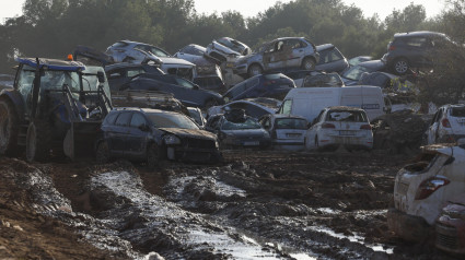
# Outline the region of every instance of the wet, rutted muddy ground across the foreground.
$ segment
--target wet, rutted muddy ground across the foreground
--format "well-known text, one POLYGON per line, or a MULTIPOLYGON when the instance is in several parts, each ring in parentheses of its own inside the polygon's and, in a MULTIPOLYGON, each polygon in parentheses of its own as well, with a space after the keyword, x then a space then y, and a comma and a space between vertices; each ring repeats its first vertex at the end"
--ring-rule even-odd
POLYGON ((218 165, 0 158, 0 259, 460 259, 387 231, 382 152, 225 151, 218 165))

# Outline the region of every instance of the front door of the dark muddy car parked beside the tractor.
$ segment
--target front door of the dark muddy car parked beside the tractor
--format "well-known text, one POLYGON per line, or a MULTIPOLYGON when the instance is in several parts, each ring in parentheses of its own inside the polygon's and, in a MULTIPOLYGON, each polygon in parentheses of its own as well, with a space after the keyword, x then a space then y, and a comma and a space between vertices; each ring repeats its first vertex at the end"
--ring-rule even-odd
POLYGON ((127 147, 125 156, 144 158, 150 134, 146 117, 141 113, 133 113, 129 122, 129 133, 125 140, 127 147))

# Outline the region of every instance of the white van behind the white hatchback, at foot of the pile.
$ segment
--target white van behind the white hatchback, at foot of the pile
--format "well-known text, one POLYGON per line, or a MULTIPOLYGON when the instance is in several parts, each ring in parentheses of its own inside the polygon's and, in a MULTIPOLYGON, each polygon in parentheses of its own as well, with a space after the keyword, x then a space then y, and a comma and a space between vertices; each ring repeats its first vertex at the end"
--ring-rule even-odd
POLYGON ((370 120, 387 111, 381 87, 345 86, 293 88, 284 97, 278 114, 302 116, 312 122, 319 111, 330 106, 362 108, 370 120))

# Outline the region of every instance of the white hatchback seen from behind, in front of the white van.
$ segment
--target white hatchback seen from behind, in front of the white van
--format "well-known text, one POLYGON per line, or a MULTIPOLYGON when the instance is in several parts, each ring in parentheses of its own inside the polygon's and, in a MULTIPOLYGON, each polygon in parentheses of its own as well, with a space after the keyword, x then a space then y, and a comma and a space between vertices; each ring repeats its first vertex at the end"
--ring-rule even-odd
POLYGON ((307 150, 371 150, 373 133, 367 113, 354 107, 327 107, 314 119, 306 133, 307 150))

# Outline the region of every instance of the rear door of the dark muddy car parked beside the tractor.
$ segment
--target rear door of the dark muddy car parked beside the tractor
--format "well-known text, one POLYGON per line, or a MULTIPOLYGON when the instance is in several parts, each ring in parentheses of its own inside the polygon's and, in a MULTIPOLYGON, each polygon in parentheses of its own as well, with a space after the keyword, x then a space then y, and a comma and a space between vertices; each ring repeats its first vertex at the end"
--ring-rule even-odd
POLYGON ((107 130, 107 142, 112 154, 115 156, 123 156, 126 150, 126 138, 129 134, 129 120, 131 118, 130 111, 123 111, 118 115, 113 127, 107 130))

